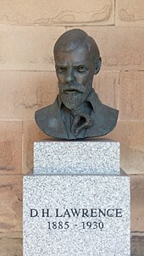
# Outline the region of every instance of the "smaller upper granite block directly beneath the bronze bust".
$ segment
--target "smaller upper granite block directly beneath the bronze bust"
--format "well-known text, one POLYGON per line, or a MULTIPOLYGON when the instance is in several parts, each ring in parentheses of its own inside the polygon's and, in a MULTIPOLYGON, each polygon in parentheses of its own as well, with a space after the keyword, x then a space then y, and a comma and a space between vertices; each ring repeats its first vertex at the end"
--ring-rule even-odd
POLYGON ((34 174, 119 174, 119 142, 107 140, 34 143, 34 174))

